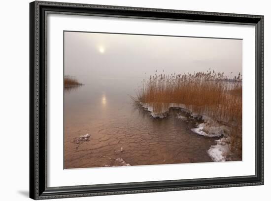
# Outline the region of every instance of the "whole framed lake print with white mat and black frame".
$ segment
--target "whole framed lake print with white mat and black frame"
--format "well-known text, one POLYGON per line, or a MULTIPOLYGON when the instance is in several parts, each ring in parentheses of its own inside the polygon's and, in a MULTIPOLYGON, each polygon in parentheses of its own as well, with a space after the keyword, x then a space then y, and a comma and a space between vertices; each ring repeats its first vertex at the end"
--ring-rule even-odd
POLYGON ((30 197, 264 184, 264 16, 30 3, 30 197))

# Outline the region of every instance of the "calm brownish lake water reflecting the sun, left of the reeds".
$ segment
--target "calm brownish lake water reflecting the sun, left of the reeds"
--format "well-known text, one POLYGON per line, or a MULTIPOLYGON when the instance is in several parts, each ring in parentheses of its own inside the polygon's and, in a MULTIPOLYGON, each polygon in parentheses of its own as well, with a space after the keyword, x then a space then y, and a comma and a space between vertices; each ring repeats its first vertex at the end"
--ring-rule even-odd
POLYGON ((193 133, 178 111, 161 120, 135 107, 130 95, 140 80, 96 79, 65 90, 65 168, 212 161, 215 139, 193 133))

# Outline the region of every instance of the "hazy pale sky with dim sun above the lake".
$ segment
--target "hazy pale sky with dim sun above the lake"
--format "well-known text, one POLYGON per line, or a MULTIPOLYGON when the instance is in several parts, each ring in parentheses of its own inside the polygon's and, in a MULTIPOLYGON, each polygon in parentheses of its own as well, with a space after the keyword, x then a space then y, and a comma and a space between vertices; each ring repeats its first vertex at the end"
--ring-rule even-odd
POLYGON ((84 82, 209 68, 242 72, 242 40, 65 32, 65 75, 84 82))

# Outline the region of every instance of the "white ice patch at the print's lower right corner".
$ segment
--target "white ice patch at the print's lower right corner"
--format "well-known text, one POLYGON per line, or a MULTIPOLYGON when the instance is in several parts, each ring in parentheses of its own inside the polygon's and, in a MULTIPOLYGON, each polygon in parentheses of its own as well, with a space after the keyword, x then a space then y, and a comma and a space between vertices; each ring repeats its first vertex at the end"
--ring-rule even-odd
POLYGON ((212 145, 207 151, 208 155, 215 162, 226 161, 227 154, 229 152, 229 145, 226 144, 226 138, 216 140, 217 144, 212 145))

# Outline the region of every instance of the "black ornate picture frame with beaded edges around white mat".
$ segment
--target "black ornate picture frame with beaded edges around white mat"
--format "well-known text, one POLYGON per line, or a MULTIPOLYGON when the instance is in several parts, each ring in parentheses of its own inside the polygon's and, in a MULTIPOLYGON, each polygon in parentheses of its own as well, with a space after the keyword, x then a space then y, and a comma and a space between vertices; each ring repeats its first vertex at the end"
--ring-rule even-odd
MULTIPOLYGON (((245 125, 243 125, 245 126, 245 125)), ((252 131, 251 131, 252 132, 252 131)), ((264 16, 34 1, 30 3, 30 198, 34 200, 264 184, 264 16), (253 25, 256 30, 256 172, 250 176, 47 186, 47 14, 253 25)))

